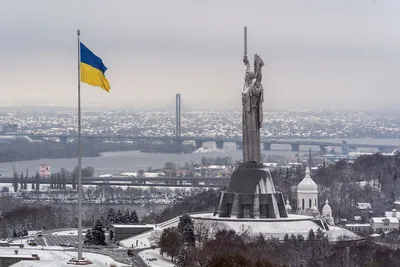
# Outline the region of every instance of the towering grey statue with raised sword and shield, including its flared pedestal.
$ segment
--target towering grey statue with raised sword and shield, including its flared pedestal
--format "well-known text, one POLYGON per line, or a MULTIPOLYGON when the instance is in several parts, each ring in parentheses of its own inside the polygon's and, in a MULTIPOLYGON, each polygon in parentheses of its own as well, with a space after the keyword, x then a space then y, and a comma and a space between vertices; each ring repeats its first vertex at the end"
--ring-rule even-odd
POLYGON ((263 122, 262 67, 264 62, 254 55, 254 72, 247 58, 247 28, 244 28, 246 66, 242 91, 243 162, 232 173, 228 187, 220 192, 214 216, 230 218, 288 217, 282 193, 276 192, 271 174, 261 161, 260 130, 263 122))

